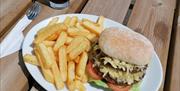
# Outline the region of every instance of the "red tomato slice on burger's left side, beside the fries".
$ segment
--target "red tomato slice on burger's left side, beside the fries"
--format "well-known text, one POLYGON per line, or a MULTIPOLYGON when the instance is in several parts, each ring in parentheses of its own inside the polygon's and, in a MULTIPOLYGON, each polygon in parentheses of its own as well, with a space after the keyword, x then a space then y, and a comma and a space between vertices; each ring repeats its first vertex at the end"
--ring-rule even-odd
POLYGON ((102 77, 96 73, 96 71, 93 69, 92 65, 93 65, 93 63, 91 61, 89 61, 86 66, 88 74, 95 80, 101 80, 102 77))

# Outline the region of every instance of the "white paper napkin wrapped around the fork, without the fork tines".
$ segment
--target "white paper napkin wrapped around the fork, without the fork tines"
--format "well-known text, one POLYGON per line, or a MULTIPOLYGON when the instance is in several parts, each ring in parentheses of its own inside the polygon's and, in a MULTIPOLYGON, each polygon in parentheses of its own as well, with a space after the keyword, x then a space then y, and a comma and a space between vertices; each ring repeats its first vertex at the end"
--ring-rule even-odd
POLYGON ((0 43, 0 58, 8 56, 21 49, 24 39, 23 30, 31 23, 26 15, 24 15, 11 32, 0 43))

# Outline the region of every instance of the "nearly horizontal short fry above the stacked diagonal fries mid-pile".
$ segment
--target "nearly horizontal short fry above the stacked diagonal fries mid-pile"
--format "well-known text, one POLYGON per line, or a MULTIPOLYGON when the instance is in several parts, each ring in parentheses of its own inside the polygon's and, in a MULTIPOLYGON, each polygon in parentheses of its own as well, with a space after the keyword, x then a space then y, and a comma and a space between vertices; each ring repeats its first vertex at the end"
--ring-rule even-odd
POLYGON ((85 36, 86 37, 89 34, 89 32, 81 31, 75 27, 69 27, 67 32, 72 37, 75 37, 75 36, 85 36))

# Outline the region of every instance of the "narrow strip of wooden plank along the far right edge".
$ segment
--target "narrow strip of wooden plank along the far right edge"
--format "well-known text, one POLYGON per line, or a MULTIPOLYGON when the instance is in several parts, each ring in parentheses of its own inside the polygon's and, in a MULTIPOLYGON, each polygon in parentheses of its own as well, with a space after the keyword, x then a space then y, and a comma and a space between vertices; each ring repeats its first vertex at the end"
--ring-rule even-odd
MULTIPOLYGON (((178 7, 177 7, 178 8, 178 7)), ((169 58, 171 61, 171 66, 169 66, 170 75, 167 78, 169 81, 166 82, 168 87, 167 91, 179 91, 180 90, 180 6, 179 6, 179 17, 177 20, 177 28, 174 29, 174 34, 172 35, 173 43, 170 53, 172 56, 169 58)), ((166 79, 166 80, 167 80, 166 79)))

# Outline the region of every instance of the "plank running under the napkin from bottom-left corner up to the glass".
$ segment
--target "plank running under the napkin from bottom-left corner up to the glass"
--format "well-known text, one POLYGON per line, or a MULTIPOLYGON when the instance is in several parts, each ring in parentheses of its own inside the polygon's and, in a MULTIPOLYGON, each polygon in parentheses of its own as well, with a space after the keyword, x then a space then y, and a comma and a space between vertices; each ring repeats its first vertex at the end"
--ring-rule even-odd
MULTIPOLYGON (((24 34, 26 34, 30 28, 40 22, 42 19, 60 15, 64 13, 73 13, 81 10, 86 0, 71 0, 71 5, 62 10, 54 10, 46 5, 42 5, 42 11, 39 16, 33 20, 33 22, 26 28, 24 34)), ((5 36, 5 35, 4 35, 5 36)), ((0 90, 2 91, 27 91, 29 73, 26 70, 21 52, 16 52, 8 55, 0 60, 0 90), (24 75, 26 74, 26 76, 24 75), (26 78, 27 77, 27 78, 26 78)), ((32 80, 30 80, 32 81, 32 80)), ((40 90, 41 91, 41 90, 40 90)))

